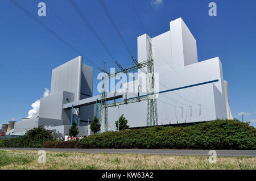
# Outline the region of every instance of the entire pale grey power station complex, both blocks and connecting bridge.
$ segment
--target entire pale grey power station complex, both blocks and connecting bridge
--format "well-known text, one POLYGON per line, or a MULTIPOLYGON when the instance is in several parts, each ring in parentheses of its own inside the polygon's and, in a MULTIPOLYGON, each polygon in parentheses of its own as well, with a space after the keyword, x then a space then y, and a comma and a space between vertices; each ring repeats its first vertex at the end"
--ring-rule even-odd
MULTIPOLYGON (((170 31, 161 35, 138 37, 139 63, 147 60, 150 42, 156 77, 158 125, 233 119, 228 83, 223 78, 220 58, 198 62, 196 40, 181 18, 170 22, 170 31)), ((143 73, 142 69, 138 70, 140 73, 143 73)), ((138 77, 123 82, 120 90, 107 93, 107 100, 144 95, 146 92, 142 88, 145 83, 138 77)), ((51 94, 40 99, 39 115, 16 122, 11 133, 43 126, 62 136, 68 133, 72 121, 77 121, 79 135, 90 134, 88 124, 96 115, 100 101, 100 95, 93 96, 92 92, 93 68, 82 64, 81 56, 60 65, 52 70, 51 94), (76 119, 72 116, 74 114, 76 119)), ((147 102, 108 108, 108 130, 115 130, 115 121, 122 114, 130 128, 145 127, 147 102)), ((104 130, 102 122, 101 132, 104 130)))

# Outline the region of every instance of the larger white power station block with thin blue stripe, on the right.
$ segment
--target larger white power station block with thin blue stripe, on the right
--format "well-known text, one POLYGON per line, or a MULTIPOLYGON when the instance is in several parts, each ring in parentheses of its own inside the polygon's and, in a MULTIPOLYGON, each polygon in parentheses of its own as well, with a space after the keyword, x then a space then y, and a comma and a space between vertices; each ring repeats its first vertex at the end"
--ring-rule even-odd
MULTIPOLYGON (((138 62, 147 60, 150 40, 155 73, 159 73, 158 124, 233 119, 220 58, 198 62, 196 40, 181 18, 170 22, 170 31, 161 35, 138 37, 138 62)), ((127 84, 139 85, 138 81, 127 84)), ((119 106, 119 115, 125 115, 130 127, 146 126, 146 111, 146 102, 119 106)), ((112 129, 117 119, 117 107, 109 108, 112 129)))

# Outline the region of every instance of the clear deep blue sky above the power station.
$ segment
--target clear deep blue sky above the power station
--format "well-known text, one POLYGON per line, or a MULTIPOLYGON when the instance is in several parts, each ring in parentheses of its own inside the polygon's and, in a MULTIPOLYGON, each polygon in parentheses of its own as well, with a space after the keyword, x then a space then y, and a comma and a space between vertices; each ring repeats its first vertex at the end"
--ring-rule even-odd
MULTIPOLYGON (((106 68, 115 67, 112 58, 82 22, 68 0, 34 0, 17 2, 46 26, 58 33, 79 52, 98 66, 105 56, 106 68), (45 2, 72 27, 91 50, 85 47, 67 27, 47 9, 38 16, 38 3, 45 2), (98 58, 100 57, 100 58, 98 58)), ((123 66, 131 59, 100 3, 75 0, 82 13, 97 31, 110 52, 123 66)), ((104 1, 131 52, 137 57, 137 37, 144 33, 130 0, 104 1)), ((255 0, 247 1, 170 1, 134 0, 144 28, 151 37, 170 30, 169 22, 183 18, 197 40, 199 61, 220 57, 224 79, 228 81, 230 107, 234 117, 245 112, 245 120, 256 127, 256 11, 255 0), (155 2, 155 3, 154 3, 155 2), (210 2, 217 4, 217 16, 209 16, 210 2)), ((0 124, 27 117, 31 104, 43 96, 44 87, 51 89, 51 70, 79 56, 35 23, 9 0, 0 1, 0 124)), ((85 64, 91 65, 84 60, 85 64)), ((94 95, 97 95, 97 70, 94 66, 94 95)))

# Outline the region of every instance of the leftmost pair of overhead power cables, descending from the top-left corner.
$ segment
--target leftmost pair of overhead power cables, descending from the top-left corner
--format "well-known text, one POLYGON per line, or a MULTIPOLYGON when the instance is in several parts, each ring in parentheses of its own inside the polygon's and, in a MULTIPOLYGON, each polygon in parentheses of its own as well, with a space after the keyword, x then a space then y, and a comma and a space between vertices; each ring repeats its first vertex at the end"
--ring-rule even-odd
POLYGON ((90 62, 90 64, 94 65, 97 67, 97 65, 93 62, 90 61, 89 58, 87 58, 86 56, 84 56, 79 50, 77 50, 75 47, 73 47, 70 43, 68 43, 67 41, 65 41, 61 36, 57 35, 57 33, 55 33, 53 30, 51 30, 51 28, 48 28, 46 26, 46 24, 44 24, 43 22, 41 22, 38 18, 36 18, 34 15, 30 14, 30 12, 28 12, 26 9, 24 9, 24 7, 22 5, 20 5, 18 2, 14 1, 14 0, 9 0, 10 2, 14 3, 14 5, 16 5, 17 7, 19 7, 19 9, 21 9, 25 14, 27 14, 32 20, 34 20, 36 23, 39 23, 41 26, 43 26, 44 28, 46 28, 47 31, 49 31, 50 33, 52 33, 52 35, 54 35, 57 39, 59 39, 60 41, 62 41, 65 45, 67 45, 67 47, 71 48, 74 52, 81 54, 86 60, 88 60, 90 62))

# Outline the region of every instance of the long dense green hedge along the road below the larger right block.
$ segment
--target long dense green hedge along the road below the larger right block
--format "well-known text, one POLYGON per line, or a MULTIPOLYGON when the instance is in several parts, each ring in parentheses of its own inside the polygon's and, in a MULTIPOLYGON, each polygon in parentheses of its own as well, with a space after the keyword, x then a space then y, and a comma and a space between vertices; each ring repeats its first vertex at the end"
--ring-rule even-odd
POLYGON ((82 138, 82 148, 256 149, 256 129, 239 120, 215 120, 187 127, 150 127, 82 138))

